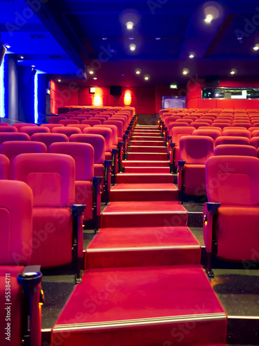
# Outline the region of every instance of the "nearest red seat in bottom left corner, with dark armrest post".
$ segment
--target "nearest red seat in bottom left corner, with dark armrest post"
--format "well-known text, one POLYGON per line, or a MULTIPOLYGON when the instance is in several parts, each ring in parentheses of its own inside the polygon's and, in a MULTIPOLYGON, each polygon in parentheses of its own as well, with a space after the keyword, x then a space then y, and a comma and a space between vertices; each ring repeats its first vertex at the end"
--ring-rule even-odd
POLYGON ((4 244, 0 254, 0 304, 3 307, 0 325, 6 328, 0 333, 0 345, 21 345, 25 336, 28 345, 41 345, 42 275, 39 266, 27 266, 32 251, 32 200, 32 190, 26 183, 0 181, 0 233, 4 244), (30 295, 23 296, 22 291, 26 291, 28 285, 30 295), (27 330, 29 311, 30 331, 27 330))

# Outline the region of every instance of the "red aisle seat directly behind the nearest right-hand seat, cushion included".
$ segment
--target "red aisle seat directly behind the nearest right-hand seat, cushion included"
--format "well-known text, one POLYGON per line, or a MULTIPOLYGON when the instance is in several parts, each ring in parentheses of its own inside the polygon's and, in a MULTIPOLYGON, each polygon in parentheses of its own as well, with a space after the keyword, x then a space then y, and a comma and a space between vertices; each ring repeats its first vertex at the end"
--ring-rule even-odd
POLYGON ((180 161, 178 161, 178 190, 192 196, 206 195, 205 163, 213 156, 214 140, 207 136, 184 136, 180 138, 180 161))

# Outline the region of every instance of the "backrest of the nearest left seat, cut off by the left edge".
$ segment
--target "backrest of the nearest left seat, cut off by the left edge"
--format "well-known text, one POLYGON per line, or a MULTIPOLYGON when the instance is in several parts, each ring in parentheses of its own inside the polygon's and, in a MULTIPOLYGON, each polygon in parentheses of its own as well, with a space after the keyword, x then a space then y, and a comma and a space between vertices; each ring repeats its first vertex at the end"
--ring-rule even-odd
POLYGON ((21 181, 0 181, 0 265, 24 266, 32 255, 32 190, 21 181))

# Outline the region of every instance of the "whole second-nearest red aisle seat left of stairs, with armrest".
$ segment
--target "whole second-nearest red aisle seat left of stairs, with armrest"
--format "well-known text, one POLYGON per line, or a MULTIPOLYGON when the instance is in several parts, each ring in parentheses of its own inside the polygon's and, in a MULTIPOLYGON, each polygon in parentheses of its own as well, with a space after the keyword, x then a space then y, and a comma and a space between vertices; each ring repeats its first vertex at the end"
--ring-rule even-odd
POLYGON ((31 264, 51 268, 70 263, 73 239, 77 239, 77 259, 83 258, 83 217, 79 214, 84 208, 74 205, 74 159, 62 154, 20 154, 13 169, 14 179, 27 183, 33 192, 31 264), (73 217, 77 218, 74 228, 73 217))

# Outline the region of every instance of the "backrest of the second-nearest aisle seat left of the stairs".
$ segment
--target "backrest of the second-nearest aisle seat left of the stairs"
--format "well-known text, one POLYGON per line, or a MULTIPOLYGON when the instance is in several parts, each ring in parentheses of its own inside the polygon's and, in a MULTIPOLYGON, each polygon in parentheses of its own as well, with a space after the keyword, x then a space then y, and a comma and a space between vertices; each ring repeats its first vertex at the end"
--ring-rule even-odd
POLYGON ((35 207, 75 203, 75 161, 62 154, 21 154, 13 162, 14 179, 27 183, 35 207))

